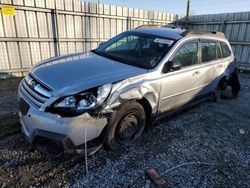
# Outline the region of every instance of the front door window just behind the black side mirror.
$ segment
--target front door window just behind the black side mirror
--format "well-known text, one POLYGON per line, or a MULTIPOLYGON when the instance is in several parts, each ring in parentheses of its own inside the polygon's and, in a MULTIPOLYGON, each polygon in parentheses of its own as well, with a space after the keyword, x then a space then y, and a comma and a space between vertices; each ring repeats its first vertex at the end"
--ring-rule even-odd
POLYGON ((179 61, 182 67, 198 63, 198 42, 184 44, 175 54, 173 61, 179 61))

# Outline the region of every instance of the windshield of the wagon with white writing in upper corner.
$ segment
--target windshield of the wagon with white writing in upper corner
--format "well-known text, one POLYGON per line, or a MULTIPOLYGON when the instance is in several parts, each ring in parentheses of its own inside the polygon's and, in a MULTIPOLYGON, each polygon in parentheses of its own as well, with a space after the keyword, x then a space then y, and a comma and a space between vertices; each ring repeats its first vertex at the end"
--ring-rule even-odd
POLYGON ((162 60, 173 42, 163 37, 125 32, 92 52, 121 63, 152 69, 162 60))

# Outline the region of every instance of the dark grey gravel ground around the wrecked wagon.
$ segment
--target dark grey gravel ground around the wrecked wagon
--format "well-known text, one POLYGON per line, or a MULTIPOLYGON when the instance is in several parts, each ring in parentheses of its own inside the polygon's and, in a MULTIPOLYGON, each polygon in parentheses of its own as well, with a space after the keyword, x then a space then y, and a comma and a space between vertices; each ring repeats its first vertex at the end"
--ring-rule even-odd
POLYGON ((24 141, 20 79, 0 80, 0 186, 147 187, 144 170, 155 167, 169 187, 250 187, 250 76, 240 81, 237 99, 205 102, 159 122, 130 147, 101 149, 86 173, 84 156, 53 159, 24 141))

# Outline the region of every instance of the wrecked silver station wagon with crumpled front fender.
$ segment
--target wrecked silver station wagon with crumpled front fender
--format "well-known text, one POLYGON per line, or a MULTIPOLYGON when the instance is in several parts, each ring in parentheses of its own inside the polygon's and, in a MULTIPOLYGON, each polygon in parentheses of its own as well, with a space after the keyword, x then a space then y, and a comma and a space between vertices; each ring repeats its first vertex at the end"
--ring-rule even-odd
POLYGON ((90 155, 123 147, 197 102, 236 97, 239 88, 223 33, 139 28, 35 65, 19 86, 19 118, 36 149, 90 155))

